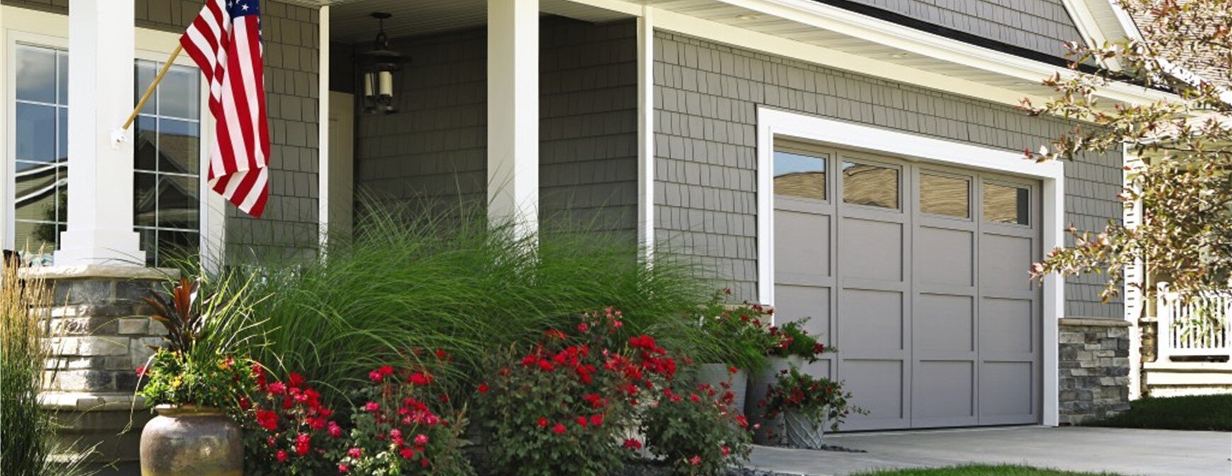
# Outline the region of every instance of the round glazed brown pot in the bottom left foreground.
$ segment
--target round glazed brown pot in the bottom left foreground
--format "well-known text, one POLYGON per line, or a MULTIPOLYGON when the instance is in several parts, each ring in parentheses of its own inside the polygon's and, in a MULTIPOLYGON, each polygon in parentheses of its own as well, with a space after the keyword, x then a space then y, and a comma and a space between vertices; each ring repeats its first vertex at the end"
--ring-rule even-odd
POLYGON ((160 405, 142 430, 142 476, 241 476, 240 428, 217 408, 160 405))

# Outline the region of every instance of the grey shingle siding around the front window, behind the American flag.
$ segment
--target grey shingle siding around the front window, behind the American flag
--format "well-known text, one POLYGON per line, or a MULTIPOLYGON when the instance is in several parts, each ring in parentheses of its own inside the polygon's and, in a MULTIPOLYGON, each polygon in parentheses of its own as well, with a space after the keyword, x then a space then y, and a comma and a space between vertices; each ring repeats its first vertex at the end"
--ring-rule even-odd
MULTIPOLYGON (((2 0, 68 14, 68 0, 2 0)), ((181 32, 200 12, 200 0, 137 0, 139 27, 181 32)), ((251 219, 227 204, 227 253, 315 255, 318 25, 315 9, 274 0, 261 2, 265 90, 270 117, 270 202, 251 219)), ((213 192, 202 192, 202 196, 213 192)))

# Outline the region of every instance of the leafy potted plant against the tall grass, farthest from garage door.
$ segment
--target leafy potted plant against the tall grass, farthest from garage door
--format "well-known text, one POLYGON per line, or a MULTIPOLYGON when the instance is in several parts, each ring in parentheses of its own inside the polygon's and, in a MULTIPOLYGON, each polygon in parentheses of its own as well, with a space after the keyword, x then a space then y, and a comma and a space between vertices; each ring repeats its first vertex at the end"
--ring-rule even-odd
MULTIPOLYGON (((731 293, 731 290, 724 290, 731 293)), ((697 383, 732 391, 732 408, 743 413, 749 373, 765 367, 765 348, 774 343, 766 331, 771 311, 758 304, 728 305, 716 295, 703 306, 699 325, 715 343, 715 352, 697 365, 697 383)))

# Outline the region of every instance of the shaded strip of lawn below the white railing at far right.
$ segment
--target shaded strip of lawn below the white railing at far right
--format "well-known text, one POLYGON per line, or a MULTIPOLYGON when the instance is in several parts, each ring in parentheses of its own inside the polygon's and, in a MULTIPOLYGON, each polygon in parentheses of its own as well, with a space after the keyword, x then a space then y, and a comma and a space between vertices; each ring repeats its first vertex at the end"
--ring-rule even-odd
POLYGON ((1232 432, 1232 395, 1142 399, 1129 412, 1083 423, 1090 427, 1232 432))

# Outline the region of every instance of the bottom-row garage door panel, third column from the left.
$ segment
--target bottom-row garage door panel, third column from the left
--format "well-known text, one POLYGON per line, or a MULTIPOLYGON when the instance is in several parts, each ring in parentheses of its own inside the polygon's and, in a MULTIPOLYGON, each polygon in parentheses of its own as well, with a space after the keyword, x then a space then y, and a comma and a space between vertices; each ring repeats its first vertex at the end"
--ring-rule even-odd
POLYGON ((977 416, 973 360, 918 360, 913 371, 913 426, 975 423, 977 416))

